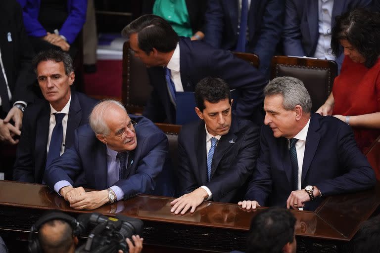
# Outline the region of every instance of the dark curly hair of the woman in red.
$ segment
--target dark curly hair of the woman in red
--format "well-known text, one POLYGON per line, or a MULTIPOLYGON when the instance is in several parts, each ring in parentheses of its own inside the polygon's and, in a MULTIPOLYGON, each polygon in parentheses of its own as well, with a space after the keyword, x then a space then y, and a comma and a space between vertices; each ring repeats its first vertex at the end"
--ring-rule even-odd
POLYGON ((359 8, 336 16, 332 28, 331 48, 334 55, 342 53, 340 40, 347 40, 366 59, 371 68, 380 55, 380 14, 359 8))

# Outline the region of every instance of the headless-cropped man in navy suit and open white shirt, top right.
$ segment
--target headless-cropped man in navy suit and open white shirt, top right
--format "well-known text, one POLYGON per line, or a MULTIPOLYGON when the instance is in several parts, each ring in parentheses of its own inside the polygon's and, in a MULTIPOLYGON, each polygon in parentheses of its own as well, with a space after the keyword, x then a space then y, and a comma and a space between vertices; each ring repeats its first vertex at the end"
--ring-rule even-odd
POLYGON ((335 58, 330 47, 335 17, 371 5, 372 0, 285 0, 285 55, 335 60, 340 72, 344 55, 335 58))

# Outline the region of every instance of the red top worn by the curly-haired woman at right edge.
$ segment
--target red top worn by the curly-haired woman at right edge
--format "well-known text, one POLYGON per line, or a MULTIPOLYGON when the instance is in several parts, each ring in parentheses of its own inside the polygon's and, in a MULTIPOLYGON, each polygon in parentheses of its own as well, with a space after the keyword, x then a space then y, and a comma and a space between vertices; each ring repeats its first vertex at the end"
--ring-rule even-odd
MULTIPOLYGON (((332 87, 332 115, 356 116, 380 111, 380 60, 370 69, 344 57, 340 75, 332 87)), ((380 135, 377 129, 354 128, 355 139, 365 153, 380 135)))

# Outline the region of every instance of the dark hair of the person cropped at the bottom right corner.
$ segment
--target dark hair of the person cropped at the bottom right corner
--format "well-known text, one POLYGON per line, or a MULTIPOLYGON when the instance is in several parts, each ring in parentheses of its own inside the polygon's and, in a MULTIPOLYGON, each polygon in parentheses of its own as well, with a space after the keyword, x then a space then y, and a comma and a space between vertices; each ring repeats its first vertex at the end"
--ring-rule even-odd
POLYGON ((363 222, 352 242, 354 253, 380 253, 380 215, 363 222))

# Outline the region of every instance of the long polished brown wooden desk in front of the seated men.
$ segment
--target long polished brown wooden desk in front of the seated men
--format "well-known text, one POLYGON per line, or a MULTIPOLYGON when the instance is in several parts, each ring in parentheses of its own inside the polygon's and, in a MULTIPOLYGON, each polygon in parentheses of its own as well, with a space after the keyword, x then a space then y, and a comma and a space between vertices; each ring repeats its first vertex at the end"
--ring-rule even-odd
MULTIPOLYGON (((112 216, 116 212, 144 221, 144 244, 181 249, 229 252, 245 250, 250 220, 257 211, 238 205, 207 202, 193 213, 170 213, 172 198, 140 195, 95 210, 112 216)), ((380 184, 375 189, 326 199, 315 211, 292 211, 297 218, 297 252, 345 252, 359 224, 378 212, 380 184), (313 250, 311 250, 313 249, 313 250)), ((87 212, 71 209, 56 193, 40 184, 0 181, 0 232, 29 233, 46 210, 59 209, 74 216, 87 212)), ((349 246, 348 246, 349 247, 349 246)))

